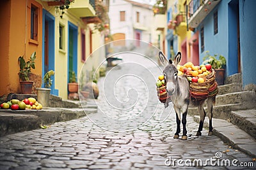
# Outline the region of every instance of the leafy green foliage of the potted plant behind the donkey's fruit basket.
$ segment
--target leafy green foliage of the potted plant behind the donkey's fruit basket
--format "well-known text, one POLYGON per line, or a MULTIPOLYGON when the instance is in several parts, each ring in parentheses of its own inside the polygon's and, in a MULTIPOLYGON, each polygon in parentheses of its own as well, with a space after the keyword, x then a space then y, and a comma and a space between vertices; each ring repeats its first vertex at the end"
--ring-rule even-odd
POLYGON ((213 69, 223 69, 226 66, 226 59, 223 55, 214 54, 210 55, 209 51, 205 52, 205 56, 203 58, 203 64, 211 64, 213 69), (218 58, 217 58, 218 57, 218 58))

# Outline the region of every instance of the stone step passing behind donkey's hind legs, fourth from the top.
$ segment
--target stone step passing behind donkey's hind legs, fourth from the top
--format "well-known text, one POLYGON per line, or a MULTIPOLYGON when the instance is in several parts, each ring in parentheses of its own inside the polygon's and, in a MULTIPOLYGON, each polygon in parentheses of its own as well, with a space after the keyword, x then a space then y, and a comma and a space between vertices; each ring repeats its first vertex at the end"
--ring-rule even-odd
MULTIPOLYGON (((246 103, 224 104, 224 105, 214 106, 212 110, 212 116, 214 118, 221 118, 221 119, 227 120, 228 118, 230 118, 231 111, 248 110, 253 108, 255 108, 255 106, 253 106, 252 104, 246 104, 246 103)), ((204 107, 204 110, 207 113, 206 107, 204 107)), ((199 115, 198 109, 188 108, 188 114, 199 115)))

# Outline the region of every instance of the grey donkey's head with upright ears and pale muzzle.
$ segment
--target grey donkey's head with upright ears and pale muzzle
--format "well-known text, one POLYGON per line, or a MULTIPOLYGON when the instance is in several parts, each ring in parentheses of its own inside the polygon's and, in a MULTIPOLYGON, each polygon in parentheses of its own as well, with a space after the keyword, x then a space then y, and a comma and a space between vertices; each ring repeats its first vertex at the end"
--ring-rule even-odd
POLYGON ((161 61, 161 64, 164 66, 163 74, 164 78, 166 80, 166 89, 168 92, 168 95, 172 95, 175 90, 177 90, 178 86, 178 70, 177 65, 180 62, 181 59, 181 53, 178 52, 174 61, 166 59, 163 52, 159 52, 159 59, 161 61))

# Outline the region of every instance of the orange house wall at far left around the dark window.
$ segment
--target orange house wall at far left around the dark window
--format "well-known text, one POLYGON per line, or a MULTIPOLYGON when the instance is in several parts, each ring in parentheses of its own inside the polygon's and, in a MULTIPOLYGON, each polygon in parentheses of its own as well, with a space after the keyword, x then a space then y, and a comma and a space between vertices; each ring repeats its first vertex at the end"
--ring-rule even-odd
MULTIPOLYGON (((0 27, 0 54, 1 54, 1 81, 0 97, 6 96, 10 92, 19 93, 19 62, 20 55, 24 55, 28 60, 31 53, 36 51, 36 69, 31 72, 42 74, 42 22, 38 22, 38 44, 29 43, 30 32, 30 3, 35 1, 3 1, 0 7, 1 22, 4 27, 0 27), (26 10, 28 11, 26 13, 26 10)), ((42 6, 39 7, 39 18, 42 20, 42 6)))

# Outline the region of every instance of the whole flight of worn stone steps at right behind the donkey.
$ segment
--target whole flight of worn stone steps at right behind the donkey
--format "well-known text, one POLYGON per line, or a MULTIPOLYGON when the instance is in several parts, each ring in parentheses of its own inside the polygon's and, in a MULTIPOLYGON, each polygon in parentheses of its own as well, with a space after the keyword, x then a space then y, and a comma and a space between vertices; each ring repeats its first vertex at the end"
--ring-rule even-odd
MULTIPOLYGON (((212 110, 214 134, 228 145, 256 157, 256 93, 243 91, 241 74, 234 74, 219 86, 212 110)), ((207 108, 205 108, 207 112, 207 108)), ((199 123, 197 108, 189 108, 188 114, 199 123)), ((204 127, 209 127, 205 117, 204 127)))

